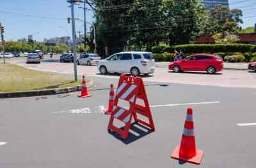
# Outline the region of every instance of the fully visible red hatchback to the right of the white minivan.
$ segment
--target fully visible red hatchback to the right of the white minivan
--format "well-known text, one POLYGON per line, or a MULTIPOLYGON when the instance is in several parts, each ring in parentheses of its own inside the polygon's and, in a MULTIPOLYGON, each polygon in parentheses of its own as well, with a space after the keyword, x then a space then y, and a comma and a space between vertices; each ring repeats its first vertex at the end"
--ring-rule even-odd
POLYGON ((223 70, 223 60, 218 55, 200 53, 172 62, 169 64, 169 70, 173 70, 175 73, 180 71, 206 71, 209 74, 214 74, 223 70))

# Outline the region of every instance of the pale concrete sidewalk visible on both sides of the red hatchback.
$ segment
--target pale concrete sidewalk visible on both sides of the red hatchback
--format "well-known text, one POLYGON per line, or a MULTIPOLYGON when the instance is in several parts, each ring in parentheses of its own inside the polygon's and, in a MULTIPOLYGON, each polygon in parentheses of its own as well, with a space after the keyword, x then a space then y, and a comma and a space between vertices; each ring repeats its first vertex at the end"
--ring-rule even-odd
MULTIPOLYGON (((157 67, 168 67, 170 62, 156 62, 157 67)), ((246 70, 248 63, 226 63, 224 62, 224 69, 246 70)))

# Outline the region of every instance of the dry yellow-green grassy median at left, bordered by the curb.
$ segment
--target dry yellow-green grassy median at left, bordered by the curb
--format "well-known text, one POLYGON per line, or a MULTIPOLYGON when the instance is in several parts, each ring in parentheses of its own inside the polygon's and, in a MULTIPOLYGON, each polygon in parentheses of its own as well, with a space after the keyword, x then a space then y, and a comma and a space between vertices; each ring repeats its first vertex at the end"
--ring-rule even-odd
POLYGON ((34 71, 14 64, 0 64, 0 92, 64 88, 80 84, 81 81, 75 82, 66 76, 34 71))

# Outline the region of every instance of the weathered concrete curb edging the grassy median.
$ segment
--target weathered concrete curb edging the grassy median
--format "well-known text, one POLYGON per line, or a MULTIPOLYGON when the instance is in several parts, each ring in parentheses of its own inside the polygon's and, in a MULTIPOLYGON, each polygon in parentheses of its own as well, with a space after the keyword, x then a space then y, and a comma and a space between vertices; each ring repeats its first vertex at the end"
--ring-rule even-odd
MULTIPOLYGON (((86 87, 92 87, 93 81, 86 83, 86 87)), ((17 98, 17 97, 32 97, 32 96, 40 96, 40 95, 55 95, 55 94, 67 94, 70 92, 77 92, 81 90, 81 85, 76 87, 67 87, 67 88, 54 88, 54 89, 47 89, 47 90, 30 90, 24 92, 6 92, 0 94, 0 99, 6 98, 17 98)))

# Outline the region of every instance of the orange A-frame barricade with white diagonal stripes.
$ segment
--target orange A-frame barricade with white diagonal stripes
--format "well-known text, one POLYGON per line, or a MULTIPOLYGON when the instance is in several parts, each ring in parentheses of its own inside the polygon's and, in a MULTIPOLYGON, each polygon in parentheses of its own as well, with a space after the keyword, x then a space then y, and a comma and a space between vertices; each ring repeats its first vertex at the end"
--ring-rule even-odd
POLYGON ((151 130, 155 130, 153 118, 151 115, 150 107, 148 104, 147 93, 144 87, 144 83, 141 77, 126 76, 122 74, 119 79, 118 88, 116 90, 116 97, 111 113, 108 130, 113 130, 116 134, 119 134, 123 139, 127 139, 129 129, 131 127, 132 116, 134 121, 146 125, 151 130), (123 99, 130 104, 129 109, 121 108, 118 106, 118 100, 123 99), (136 100, 141 99, 144 101, 145 106, 136 104, 136 100), (148 118, 148 122, 138 118, 138 115, 148 118), (114 119, 120 120, 125 123, 124 129, 119 129, 113 125, 114 119))

